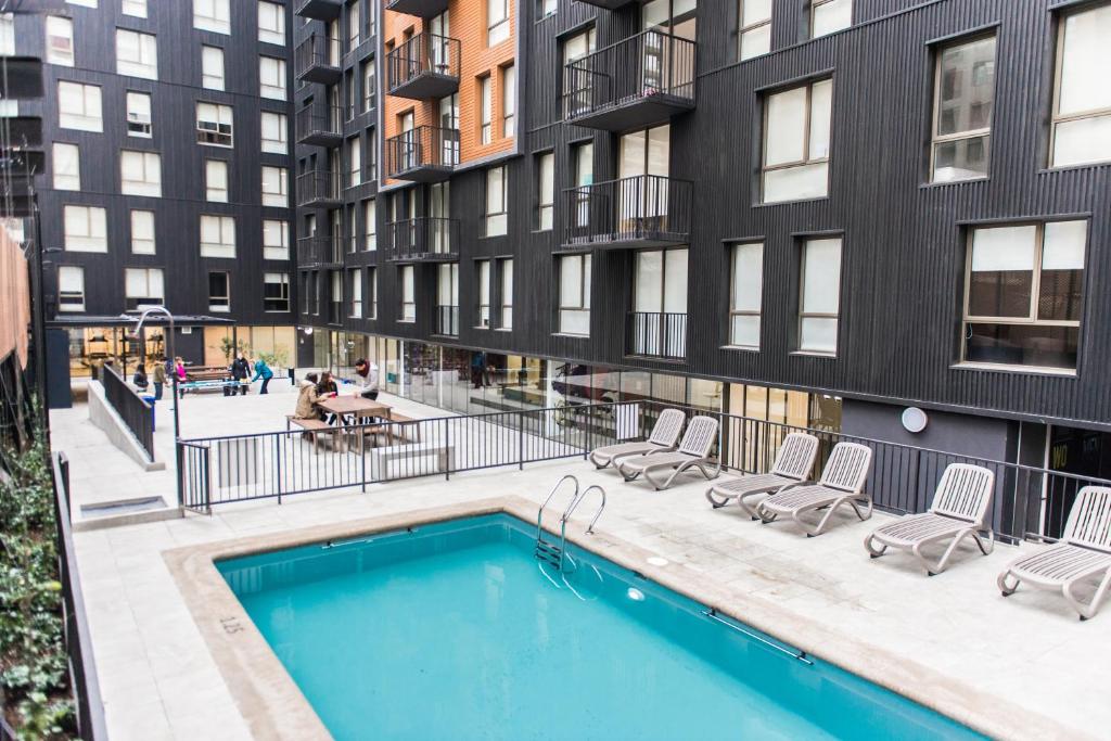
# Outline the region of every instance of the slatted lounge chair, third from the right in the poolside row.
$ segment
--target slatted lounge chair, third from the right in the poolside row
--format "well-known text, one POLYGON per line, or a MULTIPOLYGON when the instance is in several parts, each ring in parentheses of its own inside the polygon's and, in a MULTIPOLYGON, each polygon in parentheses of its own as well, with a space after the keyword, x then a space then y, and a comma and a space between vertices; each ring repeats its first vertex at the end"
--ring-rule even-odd
POLYGON ((757 515, 768 524, 785 514, 805 531, 808 538, 822 534, 833 512, 842 504, 849 504, 857 517, 867 520, 872 517, 872 497, 864 493, 863 488, 871 462, 871 448, 855 442, 839 442, 833 445, 818 483, 807 481, 783 487, 757 504, 757 515), (817 525, 801 518, 807 512, 821 509, 825 510, 825 515, 817 525))

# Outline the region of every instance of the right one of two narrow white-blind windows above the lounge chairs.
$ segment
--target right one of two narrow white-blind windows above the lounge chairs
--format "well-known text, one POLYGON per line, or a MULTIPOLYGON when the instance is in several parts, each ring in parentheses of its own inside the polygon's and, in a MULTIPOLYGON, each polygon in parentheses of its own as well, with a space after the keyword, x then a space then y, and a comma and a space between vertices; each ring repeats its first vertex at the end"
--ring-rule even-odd
POLYGON ((808 239, 802 244, 799 350, 835 354, 840 310, 841 240, 808 239))

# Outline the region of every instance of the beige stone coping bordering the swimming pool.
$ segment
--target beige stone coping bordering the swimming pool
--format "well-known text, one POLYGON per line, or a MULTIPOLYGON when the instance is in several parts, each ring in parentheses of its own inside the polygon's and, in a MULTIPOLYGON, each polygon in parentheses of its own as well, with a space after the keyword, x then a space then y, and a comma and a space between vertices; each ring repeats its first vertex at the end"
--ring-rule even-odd
MULTIPOLYGON (((217 570, 216 561, 487 514, 504 513, 528 523, 533 521, 536 512, 536 502, 522 497, 496 497, 186 545, 163 551, 162 558, 251 733, 260 739, 330 739, 311 703, 217 570)), ((578 548, 980 733, 992 738, 1057 738, 1063 733, 1073 739, 1095 738, 985 694, 959 677, 868 645, 768 599, 730 590, 682 563, 653 565, 647 559, 658 554, 604 529, 588 534, 583 525, 571 521, 567 535, 578 548)))

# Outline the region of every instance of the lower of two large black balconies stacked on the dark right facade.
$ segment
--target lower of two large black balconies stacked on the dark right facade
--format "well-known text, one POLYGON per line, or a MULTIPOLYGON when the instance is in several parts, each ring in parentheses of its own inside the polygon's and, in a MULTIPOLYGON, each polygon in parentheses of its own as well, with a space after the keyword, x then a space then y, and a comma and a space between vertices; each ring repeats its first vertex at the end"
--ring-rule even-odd
POLYGON ((694 183, 647 174, 563 191, 560 247, 629 249, 687 244, 694 183))

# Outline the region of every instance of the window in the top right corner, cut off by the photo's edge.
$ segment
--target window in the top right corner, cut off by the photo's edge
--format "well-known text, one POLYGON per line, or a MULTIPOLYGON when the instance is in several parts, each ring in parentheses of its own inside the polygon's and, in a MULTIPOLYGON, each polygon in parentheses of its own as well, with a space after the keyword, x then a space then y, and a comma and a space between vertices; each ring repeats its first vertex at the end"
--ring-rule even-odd
POLYGON ((1058 23, 1050 167, 1111 161, 1111 4, 1058 23))

